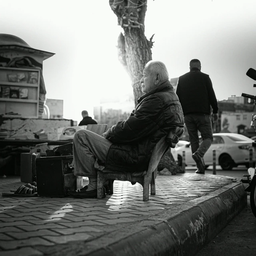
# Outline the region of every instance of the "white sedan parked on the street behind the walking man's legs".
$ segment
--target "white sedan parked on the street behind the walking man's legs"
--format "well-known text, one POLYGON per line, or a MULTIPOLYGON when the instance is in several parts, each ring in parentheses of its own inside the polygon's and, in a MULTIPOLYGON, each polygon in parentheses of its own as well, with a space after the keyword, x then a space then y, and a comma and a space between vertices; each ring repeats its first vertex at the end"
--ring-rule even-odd
MULTIPOLYGON (((200 138, 200 141, 202 139, 200 138)), ((213 142, 204 155, 206 168, 212 165, 212 150, 216 150, 216 164, 220 165, 222 170, 232 170, 238 165, 249 166, 249 150, 252 148, 254 140, 236 133, 215 133, 213 142)), ((256 148, 253 149, 253 162, 256 158, 256 148)), ((190 142, 180 140, 175 150, 178 153, 178 163, 182 165, 182 151, 185 151, 186 165, 195 166, 196 163, 192 158, 190 142)))

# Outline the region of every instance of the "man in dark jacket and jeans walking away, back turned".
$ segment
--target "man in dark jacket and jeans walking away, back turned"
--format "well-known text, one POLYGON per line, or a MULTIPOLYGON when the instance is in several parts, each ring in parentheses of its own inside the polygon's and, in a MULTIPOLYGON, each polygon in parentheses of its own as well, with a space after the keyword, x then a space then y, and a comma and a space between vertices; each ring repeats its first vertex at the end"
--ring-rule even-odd
POLYGON ((179 77, 176 94, 182 106, 185 124, 191 143, 192 158, 196 173, 204 174, 204 154, 210 148, 212 137, 211 107, 213 122, 218 120, 218 103, 209 75, 201 72, 201 63, 190 61, 190 72, 179 77), (199 144, 198 130, 202 136, 199 144))

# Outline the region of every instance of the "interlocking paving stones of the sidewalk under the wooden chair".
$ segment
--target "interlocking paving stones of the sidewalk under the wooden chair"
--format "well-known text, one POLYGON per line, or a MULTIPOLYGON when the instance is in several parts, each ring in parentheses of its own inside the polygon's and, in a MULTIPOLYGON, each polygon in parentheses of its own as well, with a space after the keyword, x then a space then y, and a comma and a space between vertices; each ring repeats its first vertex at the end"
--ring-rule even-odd
MULTIPOLYGON (((19 180, 1 178, 1 195, 18 188, 22 184, 19 180)), ((114 182, 114 194, 104 199, 0 196, 0 254, 48 255, 69 244, 97 238, 103 246, 107 234, 114 230, 149 220, 231 182, 228 177, 210 174, 158 176, 156 195, 148 202, 142 201, 140 184, 120 181, 114 182)))

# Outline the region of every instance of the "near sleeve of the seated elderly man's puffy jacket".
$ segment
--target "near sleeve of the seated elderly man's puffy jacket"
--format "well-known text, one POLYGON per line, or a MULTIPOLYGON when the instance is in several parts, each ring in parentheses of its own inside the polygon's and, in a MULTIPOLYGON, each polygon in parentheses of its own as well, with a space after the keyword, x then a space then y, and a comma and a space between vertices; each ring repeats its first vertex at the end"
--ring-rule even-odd
POLYGON ((110 127, 102 135, 113 143, 137 142, 159 129, 163 110, 164 103, 162 100, 156 96, 149 96, 133 115, 110 127))

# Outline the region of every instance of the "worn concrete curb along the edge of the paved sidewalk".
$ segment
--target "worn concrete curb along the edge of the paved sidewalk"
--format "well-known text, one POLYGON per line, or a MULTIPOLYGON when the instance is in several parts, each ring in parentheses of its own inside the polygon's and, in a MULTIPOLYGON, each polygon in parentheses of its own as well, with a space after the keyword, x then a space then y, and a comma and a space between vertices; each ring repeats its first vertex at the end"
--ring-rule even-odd
POLYGON ((148 218, 129 229, 116 230, 104 239, 87 242, 82 253, 90 256, 196 254, 247 204, 241 183, 230 183, 206 196, 148 218))

